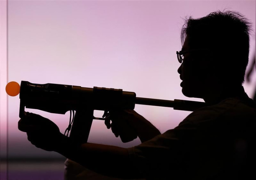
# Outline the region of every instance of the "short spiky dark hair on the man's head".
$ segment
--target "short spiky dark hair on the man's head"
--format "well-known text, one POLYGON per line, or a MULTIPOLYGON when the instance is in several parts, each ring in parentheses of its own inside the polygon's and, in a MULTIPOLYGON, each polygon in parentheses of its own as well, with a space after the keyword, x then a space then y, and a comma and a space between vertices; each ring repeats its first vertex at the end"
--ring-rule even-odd
POLYGON ((191 48, 209 48, 219 70, 232 82, 243 83, 249 56, 251 23, 236 11, 215 11, 206 17, 185 20, 182 44, 189 38, 191 48))

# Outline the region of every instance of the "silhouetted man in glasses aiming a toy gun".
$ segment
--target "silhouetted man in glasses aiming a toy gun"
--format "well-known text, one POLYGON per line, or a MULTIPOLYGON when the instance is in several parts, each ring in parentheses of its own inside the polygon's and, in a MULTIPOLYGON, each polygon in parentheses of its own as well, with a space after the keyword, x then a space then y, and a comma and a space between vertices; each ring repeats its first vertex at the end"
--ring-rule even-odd
POLYGON ((207 107, 187 116, 176 128, 160 134, 134 110, 111 111, 107 128, 118 136, 115 122, 125 120, 141 144, 122 148, 75 144, 50 120, 28 114, 19 121, 29 141, 56 151, 86 168, 122 179, 226 180, 255 178, 256 106, 245 93, 250 23, 238 12, 213 12, 188 19, 177 52, 182 92, 202 98, 207 107), (34 125, 33 121, 42 121, 34 125), (44 132, 47 126, 47 137, 44 132), (251 164, 252 163, 252 164, 251 164))

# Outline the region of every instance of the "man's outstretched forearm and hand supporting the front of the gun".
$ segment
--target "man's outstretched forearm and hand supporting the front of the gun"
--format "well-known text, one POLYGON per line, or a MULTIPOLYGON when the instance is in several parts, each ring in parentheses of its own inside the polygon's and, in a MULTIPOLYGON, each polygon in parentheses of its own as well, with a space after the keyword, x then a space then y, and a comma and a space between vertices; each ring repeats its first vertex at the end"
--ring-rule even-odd
POLYGON ((19 120, 18 128, 27 133, 27 139, 36 147, 58 152, 94 172, 122 179, 141 178, 129 159, 127 148, 93 143, 77 144, 63 135, 53 121, 33 113, 27 113, 19 120))

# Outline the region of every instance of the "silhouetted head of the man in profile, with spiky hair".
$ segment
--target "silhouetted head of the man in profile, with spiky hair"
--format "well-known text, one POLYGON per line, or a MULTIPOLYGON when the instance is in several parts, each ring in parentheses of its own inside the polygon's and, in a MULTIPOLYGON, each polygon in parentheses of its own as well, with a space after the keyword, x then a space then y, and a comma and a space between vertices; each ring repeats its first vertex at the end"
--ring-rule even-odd
POLYGON ((250 30, 248 19, 234 11, 187 19, 181 41, 182 51, 189 51, 178 70, 183 94, 201 98, 209 83, 241 86, 248 64, 250 30))

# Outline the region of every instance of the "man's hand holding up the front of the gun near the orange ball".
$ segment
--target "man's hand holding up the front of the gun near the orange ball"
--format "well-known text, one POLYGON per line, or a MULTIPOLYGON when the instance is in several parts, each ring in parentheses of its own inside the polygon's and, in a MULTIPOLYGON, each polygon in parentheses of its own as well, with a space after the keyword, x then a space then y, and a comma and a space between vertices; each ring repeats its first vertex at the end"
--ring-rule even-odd
POLYGON ((30 112, 18 121, 18 129, 27 133, 33 145, 46 151, 55 151, 63 136, 53 121, 30 112))

